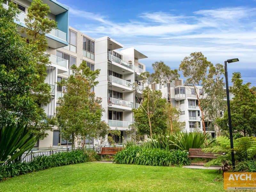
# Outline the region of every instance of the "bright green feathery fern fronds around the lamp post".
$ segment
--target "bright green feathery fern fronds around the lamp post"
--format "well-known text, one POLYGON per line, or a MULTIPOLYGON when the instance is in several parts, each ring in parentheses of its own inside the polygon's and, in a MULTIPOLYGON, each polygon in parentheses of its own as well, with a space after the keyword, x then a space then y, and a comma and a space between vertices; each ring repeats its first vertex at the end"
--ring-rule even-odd
POLYGON ((256 139, 253 137, 241 137, 233 140, 234 149, 230 148, 230 139, 228 137, 217 137, 216 146, 203 149, 205 152, 225 153, 225 155, 216 155, 217 158, 209 161, 204 166, 210 166, 216 163, 222 163, 227 161, 231 162, 231 152, 236 151, 235 161, 242 162, 247 160, 253 160, 256 158, 256 139))

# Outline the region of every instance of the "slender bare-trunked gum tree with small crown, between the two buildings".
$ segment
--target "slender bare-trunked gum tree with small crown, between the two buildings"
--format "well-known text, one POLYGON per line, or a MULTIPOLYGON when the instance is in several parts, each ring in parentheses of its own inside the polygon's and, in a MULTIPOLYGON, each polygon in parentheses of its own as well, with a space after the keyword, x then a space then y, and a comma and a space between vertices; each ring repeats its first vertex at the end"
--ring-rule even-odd
MULTIPOLYGON (((153 79, 155 80, 156 84, 167 84, 168 87, 168 101, 164 107, 164 113, 169 118, 169 124, 170 124, 170 130, 172 133, 172 126, 173 126, 173 120, 179 121, 179 118, 177 116, 180 116, 180 111, 177 110, 177 108, 172 107, 172 99, 171 99, 171 89, 170 84, 174 80, 178 80, 180 77, 180 74, 178 74, 178 70, 174 69, 171 70, 171 68, 164 64, 164 62, 155 62, 152 64, 154 73, 152 74, 153 79)), ((175 125, 180 125, 177 122, 174 123, 175 125)), ((176 129, 176 128, 175 128, 176 129)))

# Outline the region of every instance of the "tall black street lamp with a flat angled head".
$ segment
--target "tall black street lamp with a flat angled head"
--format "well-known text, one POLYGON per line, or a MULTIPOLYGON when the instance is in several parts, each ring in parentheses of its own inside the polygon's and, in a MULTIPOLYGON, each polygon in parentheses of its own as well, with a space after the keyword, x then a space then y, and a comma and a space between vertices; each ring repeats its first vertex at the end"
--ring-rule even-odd
MULTIPOLYGON (((233 63, 239 61, 238 59, 228 59, 225 61, 225 77, 226 77, 226 91, 227 91, 227 102, 228 102, 228 126, 229 126, 229 135, 230 135, 230 148, 234 149, 233 146, 233 133, 232 133, 232 126, 231 126, 231 115, 230 115, 230 101, 229 101, 229 90, 228 90, 228 69, 227 63, 233 63)), ((235 169, 235 155, 234 151, 231 152, 232 158, 232 166, 235 169)))

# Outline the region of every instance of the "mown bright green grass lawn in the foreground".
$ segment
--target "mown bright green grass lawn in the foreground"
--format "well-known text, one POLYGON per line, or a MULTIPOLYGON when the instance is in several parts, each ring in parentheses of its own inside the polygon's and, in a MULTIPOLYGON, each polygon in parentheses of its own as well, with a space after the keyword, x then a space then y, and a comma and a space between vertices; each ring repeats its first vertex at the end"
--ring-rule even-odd
POLYGON ((216 170, 82 163, 55 167, 0 182, 1 192, 198 191, 220 192, 216 170))

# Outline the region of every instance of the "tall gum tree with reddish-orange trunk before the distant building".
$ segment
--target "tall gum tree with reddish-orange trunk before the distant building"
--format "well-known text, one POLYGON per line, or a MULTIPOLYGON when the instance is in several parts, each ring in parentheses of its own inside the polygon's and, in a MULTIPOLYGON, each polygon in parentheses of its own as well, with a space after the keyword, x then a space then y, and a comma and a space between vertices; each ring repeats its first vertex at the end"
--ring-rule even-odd
POLYGON ((192 85, 195 89, 198 107, 202 113, 202 122, 205 134, 203 108, 212 101, 216 92, 216 87, 212 90, 211 98, 208 97, 207 100, 204 100, 203 94, 206 86, 213 84, 213 72, 216 68, 214 68, 210 61, 207 61, 207 58, 204 57, 202 52, 194 52, 191 53, 189 57, 185 57, 183 61, 181 61, 179 70, 182 71, 183 76, 187 78, 185 84, 192 85), (200 93, 197 92, 198 87, 201 87, 200 93))

